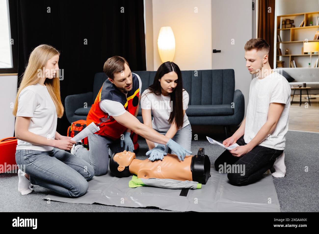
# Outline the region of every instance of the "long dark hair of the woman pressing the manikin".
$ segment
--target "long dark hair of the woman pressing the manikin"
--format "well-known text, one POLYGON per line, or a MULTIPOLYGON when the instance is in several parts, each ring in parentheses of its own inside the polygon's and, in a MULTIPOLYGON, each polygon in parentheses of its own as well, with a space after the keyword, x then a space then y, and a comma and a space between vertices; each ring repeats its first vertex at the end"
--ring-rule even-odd
POLYGON ((173 110, 169 116, 169 124, 172 124, 175 121, 177 129, 180 129, 183 126, 183 80, 182 80, 182 73, 179 67, 174 62, 165 62, 162 63, 157 72, 155 74, 154 82, 148 89, 154 93, 155 95, 159 96, 162 94, 161 86, 159 79, 161 79, 165 74, 174 71, 177 74, 177 85, 173 92, 170 94, 171 101, 173 101, 173 110))

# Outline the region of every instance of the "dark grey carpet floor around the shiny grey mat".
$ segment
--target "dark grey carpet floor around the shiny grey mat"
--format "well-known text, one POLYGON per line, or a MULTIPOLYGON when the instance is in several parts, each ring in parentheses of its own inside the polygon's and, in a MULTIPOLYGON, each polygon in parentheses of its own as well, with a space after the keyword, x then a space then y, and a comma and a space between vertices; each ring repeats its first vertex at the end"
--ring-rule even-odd
MULTIPOLYGON (((224 140, 222 128, 219 126, 192 126, 192 152, 205 148, 211 163, 224 151, 221 147, 211 145, 206 135, 224 140)), ((236 127, 232 127, 232 132, 236 127)), ((145 159, 147 145, 143 138, 139 139, 140 151, 138 159, 145 159)), ((274 178, 281 212, 318 212, 319 211, 319 134, 299 131, 288 131, 286 134, 285 162, 287 167, 284 178, 274 178), (305 168, 308 167, 308 172, 305 168)), ((71 204, 64 202, 47 202, 42 200, 50 190, 35 185, 31 194, 22 196, 18 192, 17 174, 0 174, 0 211, 6 212, 164 212, 157 208, 127 208, 100 204, 71 204)))

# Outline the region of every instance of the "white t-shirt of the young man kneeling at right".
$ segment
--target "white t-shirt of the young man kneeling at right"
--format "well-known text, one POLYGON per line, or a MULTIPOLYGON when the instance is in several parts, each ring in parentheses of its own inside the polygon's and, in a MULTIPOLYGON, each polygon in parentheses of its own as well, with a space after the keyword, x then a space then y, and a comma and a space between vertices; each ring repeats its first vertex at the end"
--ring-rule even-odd
POLYGON ((286 146, 291 88, 287 79, 273 72, 263 79, 254 78, 250 83, 244 140, 248 144, 266 123, 270 103, 284 103, 285 108, 275 130, 259 145, 277 150, 286 146))

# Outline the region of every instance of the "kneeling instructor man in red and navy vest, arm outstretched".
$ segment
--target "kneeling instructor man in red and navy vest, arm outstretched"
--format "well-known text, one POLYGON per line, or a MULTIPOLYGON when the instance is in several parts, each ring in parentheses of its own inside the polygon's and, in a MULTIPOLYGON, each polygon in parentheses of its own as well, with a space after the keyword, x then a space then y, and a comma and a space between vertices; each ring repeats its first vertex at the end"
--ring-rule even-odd
POLYGON ((89 151, 81 142, 73 145, 71 150, 71 153, 93 166, 94 175, 104 175, 108 172, 108 155, 112 155, 113 152, 122 152, 127 148, 133 152, 131 131, 159 144, 146 153, 146 155, 155 155, 154 158, 156 155, 166 155, 165 145, 174 151, 180 160, 184 160, 186 153, 192 153, 136 118, 142 82, 137 74, 131 72, 124 58, 120 56, 109 58, 104 63, 103 71, 108 79, 103 83, 86 118, 87 125, 93 122, 100 127, 100 130, 88 137, 89 151), (123 141, 121 141, 122 134, 123 141))

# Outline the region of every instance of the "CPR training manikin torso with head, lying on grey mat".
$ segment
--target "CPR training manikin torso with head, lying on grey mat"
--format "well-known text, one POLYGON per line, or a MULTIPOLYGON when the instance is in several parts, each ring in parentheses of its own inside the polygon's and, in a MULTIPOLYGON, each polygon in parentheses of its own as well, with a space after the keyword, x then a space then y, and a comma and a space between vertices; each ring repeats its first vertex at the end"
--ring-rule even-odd
POLYGON ((186 156, 180 161, 175 154, 167 154, 163 160, 138 160, 135 153, 123 151, 114 153, 110 159, 110 171, 116 177, 173 179, 179 181, 197 181, 205 184, 210 174, 210 160, 200 148, 198 154, 186 156))

